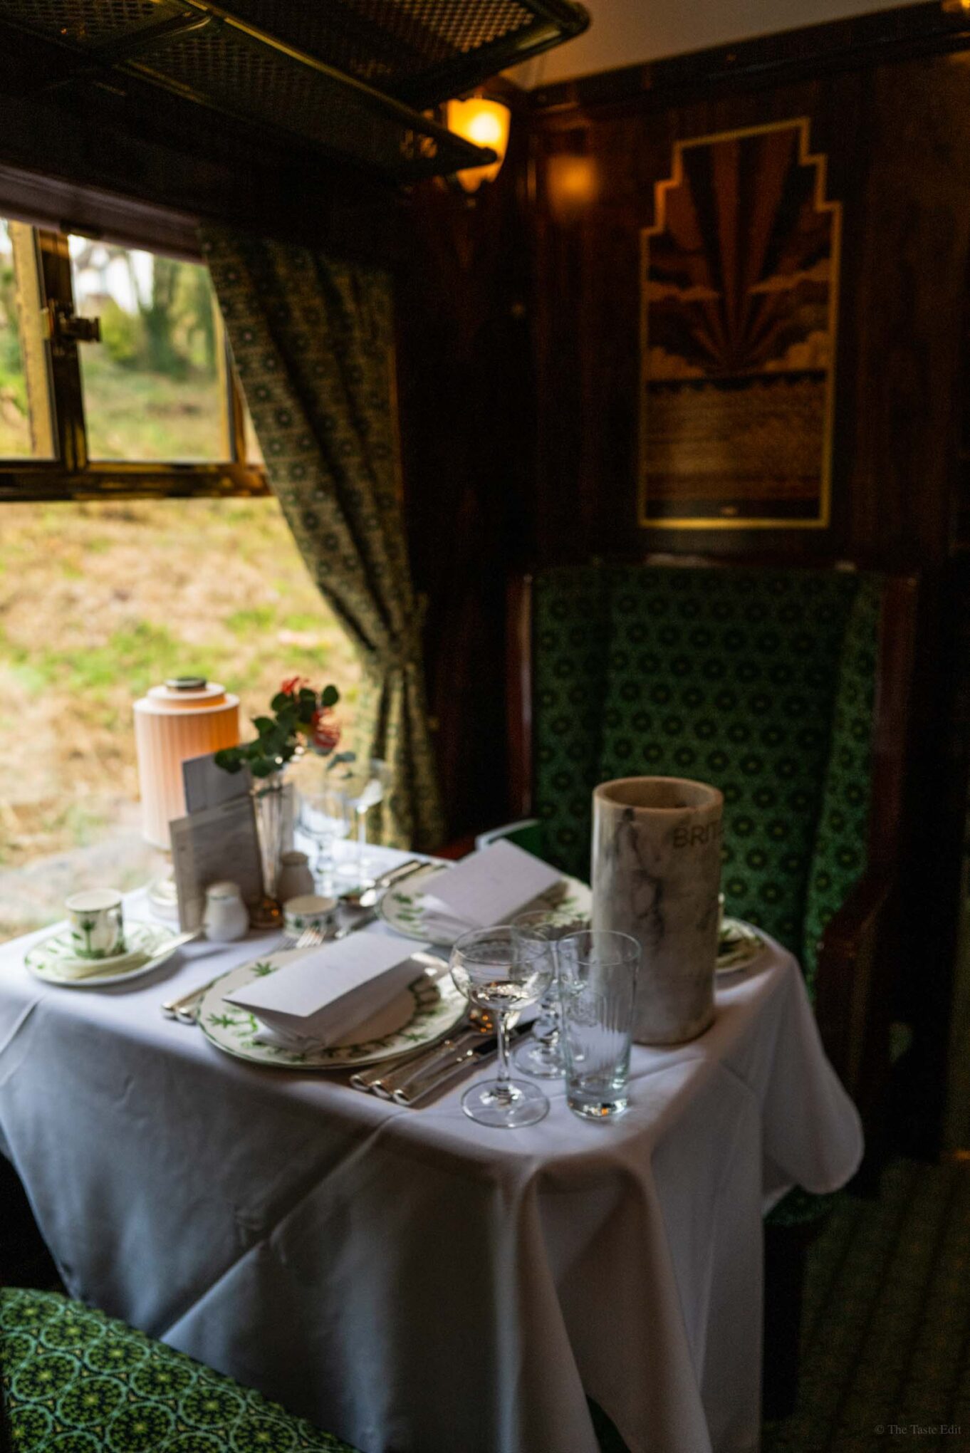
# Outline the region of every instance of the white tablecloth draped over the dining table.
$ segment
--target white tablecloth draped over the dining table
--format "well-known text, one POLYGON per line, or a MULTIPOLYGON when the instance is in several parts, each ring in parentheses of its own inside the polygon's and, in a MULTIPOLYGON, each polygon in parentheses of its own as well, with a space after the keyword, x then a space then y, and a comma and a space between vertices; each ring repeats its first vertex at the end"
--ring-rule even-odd
POLYGON ((722 981, 701 1039, 635 1048, 620 1120, 545 1081, 513 1132, 465 1084, 405 1110, 158 1013, 266 937, 87 992, 28 942, 0 949, 0 1146, 76 1296, 363 1453, 597 1453, 587 1395, 633 1453, 757 1449, 762 1210, 861 1154, 790 955, 722 981))

